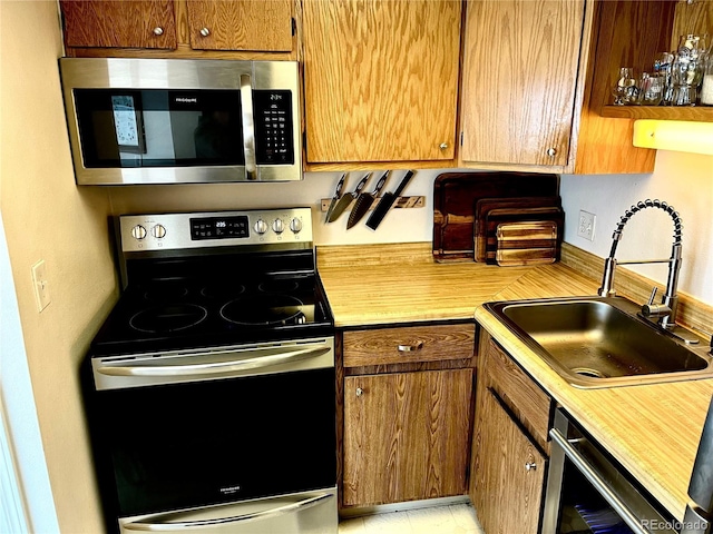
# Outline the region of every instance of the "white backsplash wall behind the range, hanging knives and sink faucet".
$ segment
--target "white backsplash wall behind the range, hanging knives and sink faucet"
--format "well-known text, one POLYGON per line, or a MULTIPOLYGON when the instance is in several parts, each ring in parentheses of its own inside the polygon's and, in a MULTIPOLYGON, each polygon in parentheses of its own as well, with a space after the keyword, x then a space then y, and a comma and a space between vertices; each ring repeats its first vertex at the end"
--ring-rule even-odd
MULTIPOLYGON (((318 245, 363 243, 430 241, 433 228, 433 179, 457 169, 419 170, 404 195, 426 196, 426 207, 394 210, 374 231, 363 224, 346 230, 346 216, 324 222, 319 211, 320 199, 329 198, 340 172, 307 172, 304 181, 294 184, 234 184, 211 186, 121 187, 111 188, 115 214, 152 210, 212 210, 311 206, 318 245)), ((404 171, 394 171, 385 190, 393 190, 404 171)), ((351 172, 348 190, 356 185, 361 172, 351 172)), ((373 188, 375 180, 368 186, 373 188)), ((579 248, 606 257, 612 233, 625 210, 646 198, 658 198, 673 205, 684 222, 683 254, 678 288, 706 303, 713 303, 713 157, 660 150, 656 169, 651 175, 596 175, 561 177, 561 196, 566 212, 565 240, 579 248), (579 210, 595 214, 594 241, 576 235, 579 210)), ((658 209, 635 215, 624 230, 617 257, 668 258, 673 226, 658 209)), ((633 267, 658 281, 665 281, 666 266, 633 267)), ((713 329, 713 325, 712 325, 713 329)))

